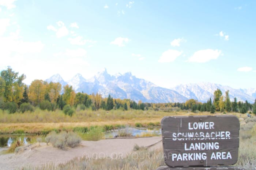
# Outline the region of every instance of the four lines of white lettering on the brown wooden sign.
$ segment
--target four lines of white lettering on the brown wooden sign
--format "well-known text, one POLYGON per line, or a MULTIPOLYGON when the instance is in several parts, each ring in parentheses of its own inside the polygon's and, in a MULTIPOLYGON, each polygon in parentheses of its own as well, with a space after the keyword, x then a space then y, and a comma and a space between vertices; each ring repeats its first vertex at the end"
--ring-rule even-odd
MULTIPOLYGON (((182 121, 181 121, 182 123, 182 121)), ((180 123, 180 127, 181 126, 180 123)), ((219 159, 232 159, 229 151, 220 152, 218 151, 221 147, 219 142, 204 142, 203 140, 220 140, 220 139, 231 139, 230 131, 214 131, 214 122, 188 122, 187 132, 172 132, 173 141, 188 141, 182 142, 184 144, 184 150, 187 153, 173 153, 169 156, 172 157, 172 161, 195 161, 195 160, 207 160, 207 154, 203 153, 188 153, 189 151, 206 151, 213 150, 211 155, 211 160, 219 159), (193 130, 193 131, 192 131, 193 130), (197 130, 197 131, 196 131, 197 130), (213 130, 213 131, 211 131, 213 130), (193 140, 198 140, 197 142, 192 142, 193 140), (191 142, 189 142, 191 141, 191 142)), ((209 158, 208 158, 209 159, 209 158)))

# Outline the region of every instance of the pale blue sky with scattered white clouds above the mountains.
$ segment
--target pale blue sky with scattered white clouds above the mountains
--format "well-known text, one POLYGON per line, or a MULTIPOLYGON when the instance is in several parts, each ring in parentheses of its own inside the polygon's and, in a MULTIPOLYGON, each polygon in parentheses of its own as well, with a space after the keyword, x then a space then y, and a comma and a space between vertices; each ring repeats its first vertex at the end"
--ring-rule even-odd
POLYGON ((256 1, 0 0, 0 70, 256 87, 256 1))

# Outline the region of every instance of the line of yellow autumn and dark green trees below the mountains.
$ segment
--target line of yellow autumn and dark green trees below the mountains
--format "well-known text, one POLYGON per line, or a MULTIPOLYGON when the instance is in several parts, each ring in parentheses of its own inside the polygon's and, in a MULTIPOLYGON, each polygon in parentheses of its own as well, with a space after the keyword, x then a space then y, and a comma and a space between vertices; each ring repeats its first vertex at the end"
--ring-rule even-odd
POLYGON ((42 110, 63 110, 65 114, 72 116, 74 108, 85 110, 112 110, 112 109, 136 109, 136 110, 161 110, 164 108, 178 107, 181 110, 208 111, 214 113, 220 112, 241 112, 253 111, 256 114, 256 100, 254 104, 245 102, 231 102, 229 91, 222 95, 221 90, 214 91, 213 100, 207 102, 198 102, 195 99, 189 99, 185 103, 143 103, 141 100, 137 103, 131 99, 113 99, 112 96, 102 98, 101 94, 86 94, 83 92, 75 93, 72 86, 66 85, 63 88, 60 83, 45 82, 43 80, 34 80, 30 86, 23 83, 26 78, 24 74, 19 73, 8 67, 0 73, 0 109, 8 110, 9 113, 16 111, 33 111, 34 107, 42 110))

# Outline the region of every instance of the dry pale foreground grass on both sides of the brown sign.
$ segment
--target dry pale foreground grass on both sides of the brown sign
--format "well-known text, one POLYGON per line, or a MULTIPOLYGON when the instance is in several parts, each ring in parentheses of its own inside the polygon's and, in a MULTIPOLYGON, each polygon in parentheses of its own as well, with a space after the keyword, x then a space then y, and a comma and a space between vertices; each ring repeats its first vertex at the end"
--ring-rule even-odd
MULTIPOLYGON (((243 167, 246 170, 256 169, 256 117, 241 118, 240 146, 238 162, 236 167, 243 167)), ((83 159, 75 158, 67 163, 54 165, 49 163, 37 167, 27 166, 25 170, 45 169, 85 169, 85 170, 154 170, 159 166, 165 166, 163 151, 148 151, 141 148, 133 151, 128 157, 118 159, 83 159)))

